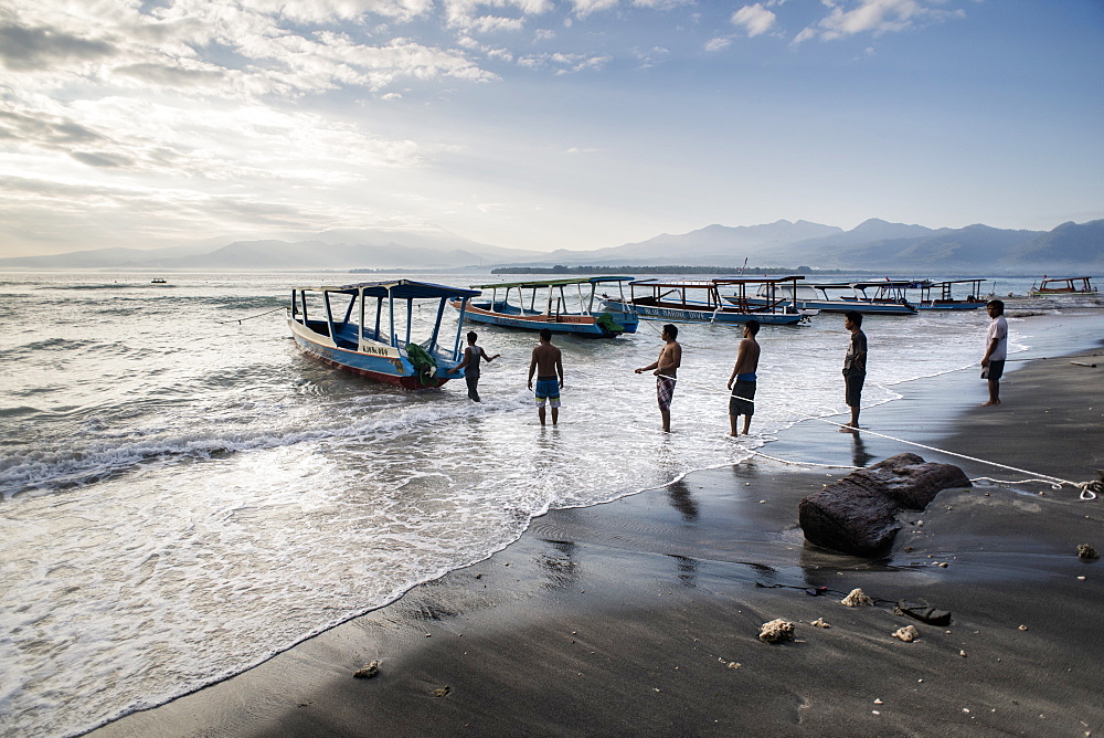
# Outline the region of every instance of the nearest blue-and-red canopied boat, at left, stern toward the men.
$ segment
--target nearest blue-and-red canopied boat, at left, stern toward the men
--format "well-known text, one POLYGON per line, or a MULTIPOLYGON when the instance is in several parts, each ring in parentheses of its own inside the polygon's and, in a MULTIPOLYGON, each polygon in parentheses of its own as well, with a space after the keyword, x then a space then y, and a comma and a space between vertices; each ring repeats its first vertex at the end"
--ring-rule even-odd
POLYGON ((287 323, 304 354, 338 369, 407 390, 440 387, 461 357, 460 329, 475 289, 395 280, 338 287, 296 287, 287 323), (456 335, 442 337, 445 304, 459 302, 456 335), (434 319, 422 318, 428 303, 434 319), (415 315, 417 306, 418 315, 415 315), (414 342, 414 331, 428 338, 414 342))

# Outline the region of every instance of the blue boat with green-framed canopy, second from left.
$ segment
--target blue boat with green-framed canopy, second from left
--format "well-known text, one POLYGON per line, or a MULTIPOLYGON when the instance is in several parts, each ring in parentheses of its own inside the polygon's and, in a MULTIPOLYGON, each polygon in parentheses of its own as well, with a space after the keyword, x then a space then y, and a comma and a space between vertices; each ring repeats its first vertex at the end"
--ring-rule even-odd
MULTIPOLYGON (((614 338, 636 333, 639 318, 634 310, 604 309, 596 293, 602 285, 616 285, 624 297, 624 284, 631 281, 628 276, 594 276, 471 285, 473 289, 489 291, 490 299, 470 303, 467 318, 523 330, 548 328, 556 334, 614 338)), ((453 306, 459 309, 459 301, 453 306)))

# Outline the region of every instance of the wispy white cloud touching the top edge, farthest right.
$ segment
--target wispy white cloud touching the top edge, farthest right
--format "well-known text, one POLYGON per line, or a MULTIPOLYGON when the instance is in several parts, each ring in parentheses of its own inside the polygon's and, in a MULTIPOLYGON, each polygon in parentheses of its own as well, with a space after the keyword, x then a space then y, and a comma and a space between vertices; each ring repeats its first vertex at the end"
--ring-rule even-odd
POLYGON ((945 4, 945 0, 859 0, 850 9, 840 0, 822 2, 829 8, 828 15, 798 33, 794 43, 813 38, 832 41, 859 33, 877 36, 905 31, 924 22, 965 17, 962 10, 937 7, 945 4))

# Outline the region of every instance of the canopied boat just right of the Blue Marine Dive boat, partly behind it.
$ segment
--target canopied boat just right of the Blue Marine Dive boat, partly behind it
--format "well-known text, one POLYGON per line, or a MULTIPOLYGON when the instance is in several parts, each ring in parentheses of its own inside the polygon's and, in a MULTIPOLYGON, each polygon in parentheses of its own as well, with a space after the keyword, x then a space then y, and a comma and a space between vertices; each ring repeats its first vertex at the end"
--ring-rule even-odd
MULTIPOLYGON (((847 313, 858 310, 863 315, 915 315, 916 308, 905 299, 905 289, 914 282, 841 282, 798 285, 763 285, 753 297, 744 298, 750 306, 778 304, 798 310, 847 313), (870 291, 869 293, 867 291, 870 291), (837 293, 846 293, 838 294, 837 293)), ((736 303, 736 295, 725 296, 736 303)))

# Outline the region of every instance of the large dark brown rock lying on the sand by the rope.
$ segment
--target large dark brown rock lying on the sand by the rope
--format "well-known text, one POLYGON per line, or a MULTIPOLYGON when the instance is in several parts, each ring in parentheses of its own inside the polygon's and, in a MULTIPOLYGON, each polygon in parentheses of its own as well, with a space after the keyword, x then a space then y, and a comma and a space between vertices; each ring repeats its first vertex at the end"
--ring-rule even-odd
POLYGON ((807 496, 798 508, 798 520, 810 542, 867 556, 893 542, 901 528, 898 513, 922 510, 943 489, 969 486, 957 466, 898 454, 807 496))

